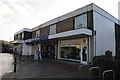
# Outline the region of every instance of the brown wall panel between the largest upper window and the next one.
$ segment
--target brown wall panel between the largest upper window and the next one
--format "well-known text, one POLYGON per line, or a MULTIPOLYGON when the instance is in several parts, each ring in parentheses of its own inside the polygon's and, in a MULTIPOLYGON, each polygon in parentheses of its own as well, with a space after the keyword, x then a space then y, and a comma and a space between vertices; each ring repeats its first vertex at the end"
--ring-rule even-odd
POLYGON ((69 18, 61 22, 58 22, 56 24, 56 29, 57 29, 56 31, 57 33, 59 33, 59 32, 73 30, 73 26, 74 26, 74 18, 69 18))

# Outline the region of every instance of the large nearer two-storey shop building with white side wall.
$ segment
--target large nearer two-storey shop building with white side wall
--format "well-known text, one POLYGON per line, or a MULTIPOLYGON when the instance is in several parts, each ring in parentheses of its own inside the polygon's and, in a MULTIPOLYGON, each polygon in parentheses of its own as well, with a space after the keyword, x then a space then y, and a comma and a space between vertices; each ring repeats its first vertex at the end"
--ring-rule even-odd
POLYGON ((118 19, 92 3, 31 29, 23 44, 31 54, 39 49, 43 57, 89 64, 107 50, 119 57, 119 27, 118 19))

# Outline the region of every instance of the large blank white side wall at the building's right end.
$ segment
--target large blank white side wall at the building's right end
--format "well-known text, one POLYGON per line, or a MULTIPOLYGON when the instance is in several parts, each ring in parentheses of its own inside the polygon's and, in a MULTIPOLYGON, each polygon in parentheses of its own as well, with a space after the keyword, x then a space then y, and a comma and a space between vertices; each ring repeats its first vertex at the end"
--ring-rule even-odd
POLYGON ((96 56, 104 55, 106 50, 115 56, 114 22, 93 11, 94 30, 96 31, 96 56))

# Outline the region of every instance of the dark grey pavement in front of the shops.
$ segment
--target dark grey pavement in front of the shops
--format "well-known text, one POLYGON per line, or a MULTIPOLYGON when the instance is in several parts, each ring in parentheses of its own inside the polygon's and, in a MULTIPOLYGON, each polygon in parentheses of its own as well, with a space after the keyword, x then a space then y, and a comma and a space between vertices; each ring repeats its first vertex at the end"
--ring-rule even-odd
POLYGON ((89 68, 79 69, 78 62, 43 58, 42 61, 34 61, 33 57, 17 56, 17 71, 3 76, 11 78, 89 78, 89 68))

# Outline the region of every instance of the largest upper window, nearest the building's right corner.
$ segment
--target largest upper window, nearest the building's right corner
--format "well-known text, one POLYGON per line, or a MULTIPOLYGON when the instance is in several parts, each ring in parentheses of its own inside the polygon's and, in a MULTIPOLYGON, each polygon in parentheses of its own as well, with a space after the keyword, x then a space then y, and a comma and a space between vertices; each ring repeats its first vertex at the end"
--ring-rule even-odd
POLYGON ((87 27, 87 13, 75 17, 75 29, 87 27))

